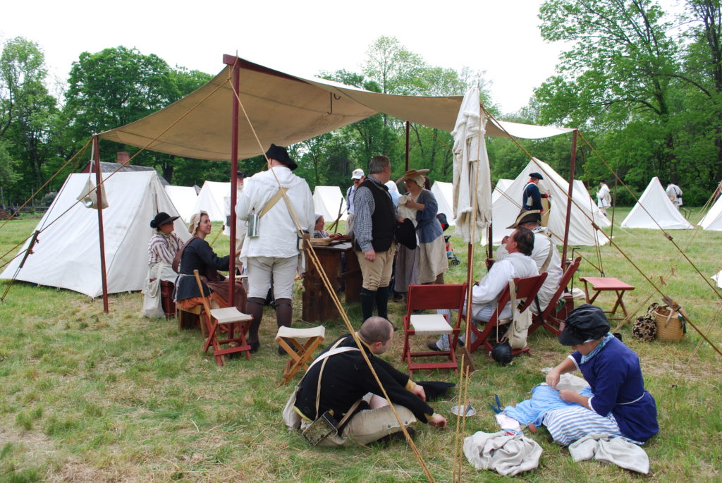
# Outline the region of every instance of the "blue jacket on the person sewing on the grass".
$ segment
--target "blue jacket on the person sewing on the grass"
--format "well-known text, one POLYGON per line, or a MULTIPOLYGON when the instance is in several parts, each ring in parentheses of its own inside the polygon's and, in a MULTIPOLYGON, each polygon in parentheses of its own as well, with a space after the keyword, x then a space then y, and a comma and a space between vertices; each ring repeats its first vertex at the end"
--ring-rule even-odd
POLYGON ((591 408, 600 416, 610 412, 619 430, 627 438, 646 441, 659 432, 657 406, 645 391, 639 357, 616 337, 590 360, 582 363, 582 354, 573 359, 591 387, 591 408))

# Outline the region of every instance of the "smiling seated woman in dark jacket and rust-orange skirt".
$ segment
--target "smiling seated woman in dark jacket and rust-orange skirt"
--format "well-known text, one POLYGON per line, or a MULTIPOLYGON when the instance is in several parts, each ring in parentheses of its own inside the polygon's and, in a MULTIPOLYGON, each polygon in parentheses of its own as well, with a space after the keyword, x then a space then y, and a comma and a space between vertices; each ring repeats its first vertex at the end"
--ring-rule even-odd
MULTIPOLYGON (((218 270, 228 270, 229 256, 217 256, 211 245, 206 242, 206 236, 211 230, 211 220, 206 212, 193 214, 189 227, 193 238, 182 248, 175 290, 176 305, 183 310, 203 304, 196 277, 193 277, 193 270, 199 271, 203 292, 210 298, 211 308, 230 307, 227 302, 228 283, 225 282, 225 277, 218 273, 218 270)), ((240 250, 235 256, 239 254, 240 250)), ((235 279, 235 306, 241 312, 245 309, 245 290, 239 279, 235 279)))

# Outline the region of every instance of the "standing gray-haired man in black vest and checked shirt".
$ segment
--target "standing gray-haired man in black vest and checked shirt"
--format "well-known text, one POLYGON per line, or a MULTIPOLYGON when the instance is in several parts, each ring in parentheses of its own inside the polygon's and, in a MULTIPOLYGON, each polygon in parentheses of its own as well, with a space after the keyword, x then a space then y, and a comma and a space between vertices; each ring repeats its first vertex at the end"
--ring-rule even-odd
POLYGON ((369 175, 354 197, 354 236, 356 255, 361 266, 362 320, 373 316, 388 318, 388 284, 391 282, 396 242, 396 212, 386 182, 391 178, 391 161, 374 156, 368 164, 369 175))

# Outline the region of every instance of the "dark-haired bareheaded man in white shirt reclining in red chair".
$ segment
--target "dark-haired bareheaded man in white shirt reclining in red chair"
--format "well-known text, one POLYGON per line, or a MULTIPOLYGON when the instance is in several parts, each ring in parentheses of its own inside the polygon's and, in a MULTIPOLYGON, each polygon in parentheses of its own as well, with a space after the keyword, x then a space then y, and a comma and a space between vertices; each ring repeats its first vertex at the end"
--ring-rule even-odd
MULTIPOLYGON (((534 233, 531 230, 518 227, 507 238, 505 248, 508 256, 492 264, 487 276, 471 287, 471 317, 474 325, 490 321, 497 310, 499 295, 508 286, 509 280, 539 275, 531 258, 531 251, 534 249, 534 233)), ((511 318, 511 302, 502 308, 499 318, 511 318)), ((429 344, 429 349, 432 350, 448 350, 448 347, 446 335, 429 344)))

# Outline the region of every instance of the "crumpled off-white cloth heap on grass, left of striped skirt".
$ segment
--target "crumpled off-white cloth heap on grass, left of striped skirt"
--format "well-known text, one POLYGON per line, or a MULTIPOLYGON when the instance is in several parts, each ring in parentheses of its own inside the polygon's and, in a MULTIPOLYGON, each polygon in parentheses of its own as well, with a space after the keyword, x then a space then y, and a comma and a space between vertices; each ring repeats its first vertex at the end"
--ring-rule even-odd
POLYGON ((521 434, 477 431, 464 438, 464 455, 476 469, 513 476, 539 466, 541 446, 521 434))

